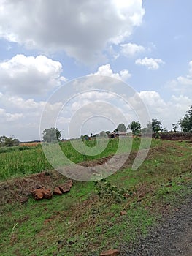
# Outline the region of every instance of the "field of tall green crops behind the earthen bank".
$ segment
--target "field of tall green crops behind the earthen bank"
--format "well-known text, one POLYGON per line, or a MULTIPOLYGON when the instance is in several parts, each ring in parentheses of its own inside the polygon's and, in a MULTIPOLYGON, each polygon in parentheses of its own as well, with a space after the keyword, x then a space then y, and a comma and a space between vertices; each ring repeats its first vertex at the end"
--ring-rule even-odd
MULTIPOLYGON (((128 151, 137 151, 140 145, 139 138, 126 138, 122 140, 120 148, 118 148, 118 139, 101 139, 100 143, 107 144, 107 147, 101 154, 95 156, 87 156, 80 154, 76 151, 70 141, 61 142, 59 146, 64 152, 66 157, 74 163, 84 162, 86 160, 99 159, 101 157, 108 157, 115 154, 117 148, 119 153, 125 153, 128 151)), ((147 148, 149 139, 142 139, 142 148, 147 148)), ((77 140, 77 144, 80 140, 77 140)), ((96 141, 85 141, 86 146, 93 147, 96 141)), ((159 140, 152 140, 151 146, 156 146, 161 143, 159 140)), ((51 149, 54 151, 54 144, 51 149)), ((56 150, 56 149, 55 149, 56 150)), ((50 152, 52 154, 52 152, 50 152)), ((44 170, 52 170, 53 167, 47 161, 41 144, 36 146, 15 146, 10 148, 0 148, 0 181, 7 180, 7 178, 15 176, 25 176, 33 173, 39 173, 44 170)), ((64 162, 65 165, 65 162, 64 162)))

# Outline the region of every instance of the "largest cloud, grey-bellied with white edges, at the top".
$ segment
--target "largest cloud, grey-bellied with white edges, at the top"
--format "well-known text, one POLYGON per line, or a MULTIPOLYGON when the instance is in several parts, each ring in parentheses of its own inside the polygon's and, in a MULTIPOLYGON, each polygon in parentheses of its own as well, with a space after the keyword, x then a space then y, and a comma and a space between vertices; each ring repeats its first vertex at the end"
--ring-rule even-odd
MULTIPOLYGON (((142 0, 0 0, 0 37, 90 62, 142 23, 142 0)), ((98 60, 98 59, 97 59, 98 60)))

